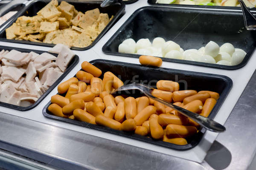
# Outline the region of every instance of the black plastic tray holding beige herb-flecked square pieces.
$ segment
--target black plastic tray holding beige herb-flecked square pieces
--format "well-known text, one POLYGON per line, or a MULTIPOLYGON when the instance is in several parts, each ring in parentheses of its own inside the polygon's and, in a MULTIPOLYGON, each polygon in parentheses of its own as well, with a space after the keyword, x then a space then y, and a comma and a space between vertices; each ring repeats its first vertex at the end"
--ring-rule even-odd
MULTIPOLYGON (((60 3, 62 0, 58 0, 60 3)), ((107 31, 113 26, 114 23, 116 23, 117 20, 121 17, 122 14, 125 12, 125 3, 119 2, 115 3, 112 6, 108 6, 105 8, 100 7, 100 3, 102 1, 69 1, 66 0, 68 3, 75 6, 76 10, 85 12, 94 8, 99 8, 99 11, 102 13, 107 13, 109 17, 114 15, 113 19, 108 23, 108 25, 102 30, 102 32, 98 35, 98 37, 87 47, 84 48, 78 48, 78 47, 71 47, 73 50, 88 50, 89 48, 92 48, 106 33, 107 31)), ((24 8, 16 17, 12 20, 11 23, 9 23, 2 31, 0 31, 0 40, 6 41, 6 42, 16 42, 16 43, 23 43, 23 44, 31 44, 31 45, 43 45, 48 47, 53 47, 55 44, 49 44, 49 43, 43 43, 43 42, 31 42, 31 41, 25 41, 25 40, 8 40, 6 39, 6 28, 9 28, 12 26, 12 23, 15 23, 18 17, 25 15, 25 16, 35 16, 36 13, 43 8, 44 6, 49 3, 49 0, 36 0, 32 3, 30 3, 26 8, 24 8)))

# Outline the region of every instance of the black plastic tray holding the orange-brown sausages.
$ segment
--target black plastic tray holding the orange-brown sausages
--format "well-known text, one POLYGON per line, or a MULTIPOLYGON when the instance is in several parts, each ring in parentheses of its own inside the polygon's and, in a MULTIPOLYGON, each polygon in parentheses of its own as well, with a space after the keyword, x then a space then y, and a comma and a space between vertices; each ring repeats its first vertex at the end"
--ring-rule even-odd
MULTIPOLYGON (((125 82, 125 84, 136 82, 136 80, 137 82, 140 82, 140 80, 143 80, 144 83, 150 82, 150 85, 152 87, 155 87, 157 80, 168 79, 168 80, 179 82, 180 90, 193 89, 197 91, 209 90, 209 91, 218 92, 220 94, 220 98, 218 99, 215 107, 213 108, 212 112, 209 115, 210 119, 213 119, 215 117, 215 115, 218 112, 218 109, 221 107, 222 103, 224 102, 224 99, 226 98, 227 94, 229 93, 233 85, 233 82, 229 77, 216 75, 216 74, 206 74, 206 73, 199 73, 199 72, 192 72, 192 71, 175 70, 175 69, 169 69, 169 68, 147 67, 144 65, 130 64, 125 62, 116 62, 116 61, 110 61, 110 60, 104 60, 104 59, 96 59, 91 61, 90 63, 100 68, 102 70, 102 73, 105 73, 106 71, 111 71, 116 76, 120 76, 121 79, 125 82), (127 82, 126 80, 129 80, 129 81, 127 82)), ((100 78, 102 78, 102 76, 100 78)), ((135 96, 137 95, 138 94, 135 94, 135 96)), ((188 149, 191 149, 192 147, 195 147, 200 142, 202 136, 205 133, 205 129, 202 129, 201 132, 193 136, 193 138, 188 139, 189 144, 176 145, 168 142, 157 141, 157 140, 154 140, 145 136, 133 134, 133 133, 113 130, 108 127, 93 125, 86 122, 80 122, 77 120, 54 116, 52 115, 52 113, 48 111, 48 106, 50 104, 51 102, 49 102, 43 109, 43 115, 47 118, 56 119, 62 122, 68 122, 75 125, 88 127, 91 129, 101 130, 101 131, 113 133, 119 136, 125 136, 131 139, 137 139, 143 142, 156 144, 159 146, 168 147, 175 150, 188 150, 188 149)))

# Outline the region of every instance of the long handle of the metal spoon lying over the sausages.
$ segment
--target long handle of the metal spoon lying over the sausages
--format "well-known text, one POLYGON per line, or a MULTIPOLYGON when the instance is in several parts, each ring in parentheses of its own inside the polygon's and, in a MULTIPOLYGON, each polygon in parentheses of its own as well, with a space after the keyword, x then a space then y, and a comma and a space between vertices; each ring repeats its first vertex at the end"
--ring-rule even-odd
POLYGON ((208 119, 207 117, 201 116, 199 114, 193 113, 186 109, 180 108, 179 106, 173 105, 172 103, 158 99, 157 97, 153 96, 152 94, 149 94, 148 92, 145 92, 144 94, 150 97, 151 99, 154 99, 157 102, 160 102, 170 108, 175 109, 176 111, 183 114, 184 116, 191 118, 192 120, 197 122, 199 125, 205 127, 207 130, 210 130, 213 132, 224 132, 226 130, 226 128, 223 125, 219 124, 218 122, 215 122, 214 120, 208 119))

